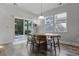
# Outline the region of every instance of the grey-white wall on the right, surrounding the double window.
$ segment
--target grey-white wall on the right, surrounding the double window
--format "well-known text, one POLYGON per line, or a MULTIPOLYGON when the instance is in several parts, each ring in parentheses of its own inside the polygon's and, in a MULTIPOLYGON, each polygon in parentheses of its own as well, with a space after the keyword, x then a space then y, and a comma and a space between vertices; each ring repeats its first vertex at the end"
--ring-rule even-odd
POLYGON ((64 43, 78 45, 79 44, 79 4, 68 4, 44 13, 47 15, 55 15, 67 12, 67 32, 62 33, 61 41, 64 43))

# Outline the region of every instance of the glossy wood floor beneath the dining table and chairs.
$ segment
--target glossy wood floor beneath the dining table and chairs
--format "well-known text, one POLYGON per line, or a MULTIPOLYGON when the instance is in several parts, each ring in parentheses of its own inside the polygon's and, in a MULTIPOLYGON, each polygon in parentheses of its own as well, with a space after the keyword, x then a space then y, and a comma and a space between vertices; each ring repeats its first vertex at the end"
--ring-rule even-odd
MULTIPOLYGON (((45 50, 44 48, 40 49, 41 52, 38 53, 38 50, 32 49, 32 46, 26 47, 25 43, 22 44, 6 44, 5 50, 0 52, 1 56, 54 56, 54 50, 48 49, 45 50)), ((61 51, 58 52, 57 49, 57 56, 79 56, 79 47, 70 46, 61 44, 61 51)))

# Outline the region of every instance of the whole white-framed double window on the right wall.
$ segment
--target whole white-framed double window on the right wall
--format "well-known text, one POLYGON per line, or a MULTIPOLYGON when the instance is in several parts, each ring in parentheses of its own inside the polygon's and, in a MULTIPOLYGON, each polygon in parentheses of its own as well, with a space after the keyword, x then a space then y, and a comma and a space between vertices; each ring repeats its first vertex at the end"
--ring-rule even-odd
POLYGON ((67 13, 45 17, 45 32, 67 32, 67 13))

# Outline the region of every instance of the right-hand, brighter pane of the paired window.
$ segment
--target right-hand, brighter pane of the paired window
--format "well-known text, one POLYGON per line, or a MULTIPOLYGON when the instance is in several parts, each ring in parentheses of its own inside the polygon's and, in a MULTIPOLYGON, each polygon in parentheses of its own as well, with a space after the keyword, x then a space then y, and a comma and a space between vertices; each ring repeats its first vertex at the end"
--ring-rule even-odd
POLYGON ((67 32, 67 13, 61 13, 55 15, 55 31, 67 32))

